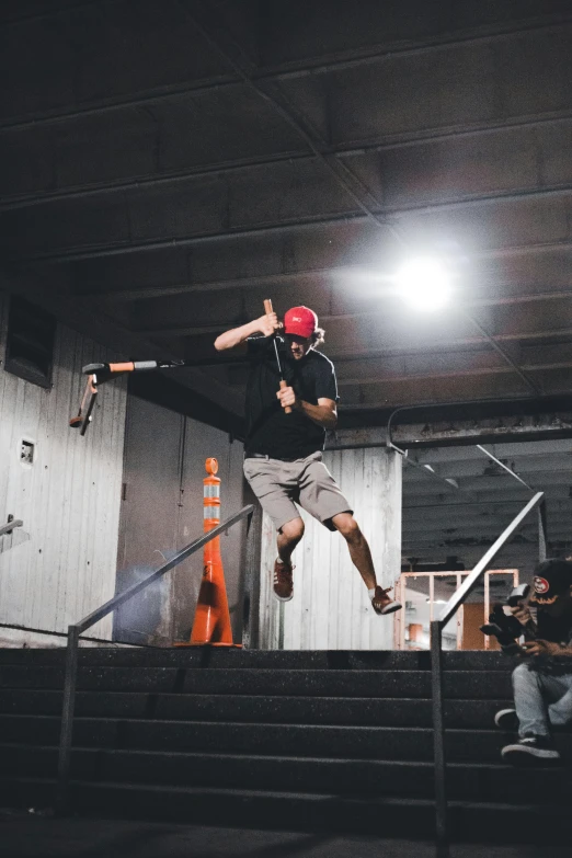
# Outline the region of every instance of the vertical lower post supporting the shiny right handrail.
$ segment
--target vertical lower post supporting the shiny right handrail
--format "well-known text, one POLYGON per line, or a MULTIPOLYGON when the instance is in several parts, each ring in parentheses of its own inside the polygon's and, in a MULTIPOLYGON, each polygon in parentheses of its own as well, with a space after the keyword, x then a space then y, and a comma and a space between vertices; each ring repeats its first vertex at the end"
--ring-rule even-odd
POLYGON ((433 742, 435 758, 435 827, 438 844, 448 836, 447 790, 445 768, 445 724, 443 716, 442 624, 431 622, 431 680, 433 689, 433 742))

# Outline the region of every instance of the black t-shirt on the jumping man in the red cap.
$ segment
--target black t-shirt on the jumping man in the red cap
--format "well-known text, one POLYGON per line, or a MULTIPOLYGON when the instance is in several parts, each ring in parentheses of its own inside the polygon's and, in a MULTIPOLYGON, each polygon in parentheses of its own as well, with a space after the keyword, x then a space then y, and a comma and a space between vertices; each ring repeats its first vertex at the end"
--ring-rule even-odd
MULTIPOLYGON (((331 361, 311 348, 299 361, 288 353, 284 340, 276 338, 284 378, 299 399, 312 405, 319 399, 338 401, 338 385, 331 361)), ((286 414, 276 391, 281 377, 271 336, 248 340, 251 370, 247 385, 247 441, 244 455, 263 453, 272 459, 298 459, 322 450, 325 430, 301 411, 286 414)))

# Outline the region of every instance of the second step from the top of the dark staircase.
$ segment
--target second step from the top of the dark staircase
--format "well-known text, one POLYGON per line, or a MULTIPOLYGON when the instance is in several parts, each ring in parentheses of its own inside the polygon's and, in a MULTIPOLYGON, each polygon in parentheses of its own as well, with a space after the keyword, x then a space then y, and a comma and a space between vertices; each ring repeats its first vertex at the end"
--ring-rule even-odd
MULTIPOLYGON (((62 667, 4 665, 0 687, 61 688, 62 667)), ((78 688, 194 694, 244 694, 325 697, 430 697, 428 671, 271 671, 260 668, 80 667, 78 688)), ((444 694, 450 698, 510 698, 511 675, 448 671, 444 694)))

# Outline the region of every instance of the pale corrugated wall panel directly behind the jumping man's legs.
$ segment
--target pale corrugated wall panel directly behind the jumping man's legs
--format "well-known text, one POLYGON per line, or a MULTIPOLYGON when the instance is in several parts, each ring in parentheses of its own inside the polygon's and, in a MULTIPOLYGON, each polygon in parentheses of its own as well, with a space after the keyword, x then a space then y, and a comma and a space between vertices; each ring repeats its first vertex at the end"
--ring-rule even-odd
MULTIPOLYGON (((401 457, 385 448, 327 450, 338 481, 367 537, 378 582, 387 587, 401 568, 401 457)), ((391 650, 393 615, 378 617, 339 534, 301 511, 306 525, 294 552, 294 598, 272 592, 276 533, 263 517, 260 628, 262 649, 391 650)))

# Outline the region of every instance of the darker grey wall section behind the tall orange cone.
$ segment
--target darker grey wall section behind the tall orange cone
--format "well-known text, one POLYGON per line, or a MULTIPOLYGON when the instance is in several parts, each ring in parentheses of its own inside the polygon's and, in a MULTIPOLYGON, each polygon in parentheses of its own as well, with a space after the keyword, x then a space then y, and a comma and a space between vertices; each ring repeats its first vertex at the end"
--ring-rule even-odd
MULTIPOLYGON (((190 396, 192 393, 190 392, 190 396)), ((221 479, 221 518, 243 506, 242 444, 227 433, 136 397, 128 397, 125 500, 122 503, 118 586, 158 568, 160 552, 203 534, 205 459, 221 479)), ((234 638, 240 640, 243 525, 220 538, 234 638)), ((115 637, 129 642, 188 640, 203 574, 203 552, 169 572, 157 587, 121 608, 115 637)))

